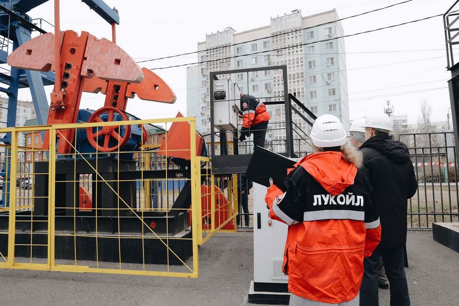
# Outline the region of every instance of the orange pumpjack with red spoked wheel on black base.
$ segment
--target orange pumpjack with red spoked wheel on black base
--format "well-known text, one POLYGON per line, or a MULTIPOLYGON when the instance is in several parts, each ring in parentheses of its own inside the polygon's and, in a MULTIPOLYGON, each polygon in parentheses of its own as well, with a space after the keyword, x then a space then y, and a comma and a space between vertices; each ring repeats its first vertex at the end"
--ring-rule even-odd
MULTIPOLYGON (((140 68, 112 41, 105 38, 97 39, 88 32, 78 35, 71 30, 58 32, 56 36, 46 33, 24 43, 10 54, 8 64, 21 69, 56 72, 47 124, 114 122, 113 126, 58 130, 55 146, 56 233, 97 231, 99 235, 118 237, 118 233, 128 236, 144 233, 143 235, 148 236, 155 232, 159 238, 166 236, 191 238, 191 232, 187 230, 188 208, 191 204, 189 181, 181 189, 169 212, 144 211, 142 222, 134 213, 139 181, 164 179, 166 171, 169 177, 190 178, 190 167, 187 167, 185 162, 176 170, 140 171, 135 161, 135 152, 139 151, 147 139, 144 126, 115 123, 138 119, 126 113, 128 99, 135 95, 142 100, 160 103, 170 104, 176 101, 172 89, 157 74, 146 68, 140 68), (83 92, 105 94, 104 106, 97 110, 80 109, 83 92), (75 185, 80 185, 80 177, 84 175, 92 177, 91 191, 82 192, 81 188, 75 188, 75 185), (58 199, 59 203, 57 203, 58 199), (119 209, 120 202, 124 209, 119 209)), ((187 128, 183 124, 188 123, 180 122, 178 126, 181 126, 182 131, 183 128, 187 128)), ((188 135, 189 128, 188 124, 188 135)), ((202 137, 198 135, 197 138, 202 147, 202 137)), ((50 139, 49 134, 44 135, 43 150, 49 149, 50 139)), ((172 145, 172 142, 170 143, 172 145)), ((201 150, 198 151, 198 154, 200 153, 201 150)), ((178 158, 186 161, 191 157, 188 154, 178 158)), ((48 220, 50 214, 47 194, 48 169, 49 162, 34 163, 34 220, 48 220)), ((17 216, 21 214, 28 215, 30 211, 18 212, 17 216)), ((47 241, 46 224, 46 222, 34 224, 33 239, 37 243, 47 241)), ((16 226, 16 242, 27 243, 30 234, 21 235, 21 232, 30 233, 32 231, 30 223, 21 222, 16 226)), ((0 227, 8 227, 8 222, 0 222, 0 227)), ((86 250, 77 252, 78 260, 95 260, 96 249, 98 249, 99 261, 119 260, 117 252, 111 252, 113 249, 118 249, 118 239, 99 241, 99 246, 96 247, 96 238, 87 236, 80 235, 73 238, 71 235, 56 235, 55 258, 73 259, 74 253, 69 250, 73 250, 75 244, 77 249, 86 250)), ((191 239, 169 240, 168 248, 177 254, 170 257, 166 255, 169 249, 165 248, 158 239, 147 239, 143 243, 144 246, 141 239, 120 240, 123 261, 142 263, 144 256, 145 263, 164 264, 169 260, 169 264, 180 264, 179 258, 186 260, 192 251, 191 239), (142 252, 142 248, 145 252, 142 252)), ((6 247, 8 243, 1 243, 0 246, 6 247)), ((28 257, 31 251, 29 248, 18 248, 15 252, 18 253, 16 256, 28 257)), ((34 251, 33 256, 46 257, 46 251, 42 253, 34 251)))

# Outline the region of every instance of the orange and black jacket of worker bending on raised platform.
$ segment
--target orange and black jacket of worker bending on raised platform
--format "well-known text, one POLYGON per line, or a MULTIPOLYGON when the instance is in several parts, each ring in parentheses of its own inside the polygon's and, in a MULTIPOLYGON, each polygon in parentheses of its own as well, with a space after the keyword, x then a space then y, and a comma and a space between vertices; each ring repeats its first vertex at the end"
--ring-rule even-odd
POLYGON ((246 129, 271 119, 266 106, 254 96, 242 95, 241 111, 244 116, 242 126, 246 129))

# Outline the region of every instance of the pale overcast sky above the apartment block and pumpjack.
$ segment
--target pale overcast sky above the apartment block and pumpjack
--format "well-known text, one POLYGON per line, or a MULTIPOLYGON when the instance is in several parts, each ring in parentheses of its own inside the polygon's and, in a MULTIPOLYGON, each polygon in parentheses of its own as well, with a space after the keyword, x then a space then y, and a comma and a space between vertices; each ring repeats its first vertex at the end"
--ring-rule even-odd
MULTIPOLYGON (((399 1, 328 0, 328 1, 125 1, 106 0, 120 14, 117 43, 137 60, 197 50, 197 42, 206 33, 231 26, 237 32, 270 24, 270 17, 300 9, 308 16, 333 8, 339 17, 395 4, 399 1), (288 3, 288 4, 287 4, 288 3)), ((453 0, 413 0, 407 4, 343 21, 345 34, 352 34, 405 21, 444 13, 453 0)), ((53 20, 53 1, 30 12, 32 18, 53 20)), ((51 31, 52 28, 45 28, 51 31)), ((111 38, 111 29, 80 0, 61 0, 61 29, 88 31, 98 38, 111 38)), ((345 39, 350 118, 356 119, 384 108, 390 100, 396 115, 408 114, 415 123, 419 105, 427 100, 433 108, 433 121, 446 120, 449 96, 446 81, 444 34, 441 17, 407 26, 357 35, 345 39), (397 52, 387 52, 397 51, 397 52), (401 51, 401 52, 399 52, 401 51), (363 52, 363 53, 362 53, 363 52), (401 63, 402 62, 402 63, 401 63), (371 66, 371 67, 369 67, 371 66)), ((187 55, 146 62, 147 68, 195 62, 187 55)), ((186 113, 186 67, 154 70, 177 94, 174 105, 129 100, 127 111, 142 119, 175 117, 186 113)), ((47 87, 47 93, 52 87, 47 87)), ((103 106, 102 95, 83 94, 81 108, 103 106)), ((30 100, 28 90, 20 99, 30 100)))

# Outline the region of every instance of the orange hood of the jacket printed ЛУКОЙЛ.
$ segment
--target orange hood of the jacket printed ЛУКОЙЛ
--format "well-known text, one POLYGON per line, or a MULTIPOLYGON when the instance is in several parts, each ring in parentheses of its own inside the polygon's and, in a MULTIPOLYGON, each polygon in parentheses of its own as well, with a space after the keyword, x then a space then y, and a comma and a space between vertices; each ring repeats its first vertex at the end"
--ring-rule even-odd
POLYGON ((325 151, 308 155, 295 164, 324 187, 331 195, 338 195, 354 184, 357 167, 347 162, 342 152, 325 151))

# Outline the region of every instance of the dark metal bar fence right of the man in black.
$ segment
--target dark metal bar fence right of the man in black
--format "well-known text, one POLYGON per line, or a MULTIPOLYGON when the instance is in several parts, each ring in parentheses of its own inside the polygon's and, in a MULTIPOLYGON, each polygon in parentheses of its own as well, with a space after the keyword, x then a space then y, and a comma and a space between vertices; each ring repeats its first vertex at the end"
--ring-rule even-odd
POLYGON ((400 134, 411 155, 419 188, 408 200, 408 228, 431 229, 432 222, 457 222, 459 179, 452 132, 400 134))

